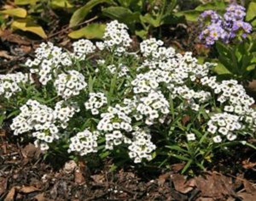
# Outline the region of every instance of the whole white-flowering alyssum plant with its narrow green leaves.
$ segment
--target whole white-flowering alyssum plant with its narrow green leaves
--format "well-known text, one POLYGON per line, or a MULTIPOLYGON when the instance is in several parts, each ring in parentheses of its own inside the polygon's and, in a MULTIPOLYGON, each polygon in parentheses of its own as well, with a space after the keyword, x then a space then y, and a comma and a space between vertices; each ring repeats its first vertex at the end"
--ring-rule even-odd
POLYGON ((186 162, 183 172, 205 169, 230 146, 255 148, 247 141, 255 138, 254 100, 242 85, 217 82, 213 64, 200 65, 160 40, 141 42, 138 53, 129 52, 130 43, 126 25, 113 21, 103 42, 79 40, 73 52, 43 43, 26 62, 30 74, 1 75, 14 135, 49 153, 119 154, 158 165, 175 157, 186 162))

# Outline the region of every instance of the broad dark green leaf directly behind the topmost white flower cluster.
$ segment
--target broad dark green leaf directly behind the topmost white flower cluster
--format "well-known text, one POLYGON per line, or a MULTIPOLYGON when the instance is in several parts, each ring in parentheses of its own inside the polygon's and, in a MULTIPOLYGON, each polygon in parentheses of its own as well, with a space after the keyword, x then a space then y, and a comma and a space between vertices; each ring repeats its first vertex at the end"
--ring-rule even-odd
POLYGON ((139 12, 131 12, 128 8, 111 6, 102 9, 102 14, 110 19, 118 20, 119 22, 127 24, 129 27, 139 22, 139 12))

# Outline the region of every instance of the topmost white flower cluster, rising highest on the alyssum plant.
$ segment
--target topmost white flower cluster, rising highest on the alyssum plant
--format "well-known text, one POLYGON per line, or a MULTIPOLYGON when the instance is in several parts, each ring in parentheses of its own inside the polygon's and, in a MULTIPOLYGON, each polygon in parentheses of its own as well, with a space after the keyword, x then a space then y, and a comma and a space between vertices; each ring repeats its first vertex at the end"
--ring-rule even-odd
POLYGON ((98 49, 105 48, 114 51, 115 54, 121 55, 126 52, 132 40, 127 32, 127 26, 114 20, 106 25, 104 33, 104 42, 96 42, 98 49))

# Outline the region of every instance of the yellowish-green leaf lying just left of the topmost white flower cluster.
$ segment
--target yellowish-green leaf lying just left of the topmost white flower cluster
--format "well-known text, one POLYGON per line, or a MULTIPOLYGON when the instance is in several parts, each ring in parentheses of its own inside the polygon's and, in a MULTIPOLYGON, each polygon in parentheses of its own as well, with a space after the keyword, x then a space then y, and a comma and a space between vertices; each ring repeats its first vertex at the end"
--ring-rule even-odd
POLYGON ((105 28, 105 24, 92 23, 77 31, 69 33, 68 36, 72 39, 80 39, 82 37, 85 37, 86 39, 102 39, 105 28))

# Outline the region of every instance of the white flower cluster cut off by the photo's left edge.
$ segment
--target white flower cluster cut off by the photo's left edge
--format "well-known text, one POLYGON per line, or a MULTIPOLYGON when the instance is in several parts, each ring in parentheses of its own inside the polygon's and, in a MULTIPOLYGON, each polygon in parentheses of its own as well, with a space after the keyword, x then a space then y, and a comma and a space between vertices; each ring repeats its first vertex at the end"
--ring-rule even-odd
POLYGON ((14 74, 0 75, 0 95, 3 95, 6 99, 9 99, 15 93, 21 91, 19 83, 26 83, 32 78, 29 74, 23 74, 22 72, 16 72, 14 74))

